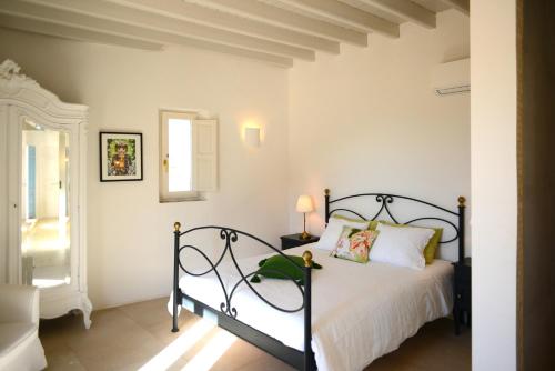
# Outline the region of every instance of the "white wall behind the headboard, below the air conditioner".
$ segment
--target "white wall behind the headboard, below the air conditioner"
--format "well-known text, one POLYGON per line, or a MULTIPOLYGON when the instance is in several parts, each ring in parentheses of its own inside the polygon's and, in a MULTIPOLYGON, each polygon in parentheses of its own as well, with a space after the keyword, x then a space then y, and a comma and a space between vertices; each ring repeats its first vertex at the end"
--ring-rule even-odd
MULTIPOLYGON (((294 201, 309 193, 317 203, 310 229, 321 232, 324 188, 332 197, 392 192, 453 210, 458 195, 470 198, 470 97, 440 98, 431 86, 435 66, 468 57, 468 26, 467 17, 442 12, 435 30, 403 24, 398 40, 372 36, 366 49, 342 44, 340 56, 296 63, 289 79, 291 231, 302 228, 294 201)), ((456 254, 454 244, 443 249, 456 254)))

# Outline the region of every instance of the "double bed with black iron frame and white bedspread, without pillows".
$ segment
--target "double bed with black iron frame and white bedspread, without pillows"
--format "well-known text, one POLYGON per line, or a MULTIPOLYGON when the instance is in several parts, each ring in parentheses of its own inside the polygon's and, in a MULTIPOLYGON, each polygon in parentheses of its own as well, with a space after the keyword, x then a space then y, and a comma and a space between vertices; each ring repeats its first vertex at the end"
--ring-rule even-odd
MULTIPOLYGON (((457 243, 461 259, 465 210, 462 198, 457 211, 451 211, 427 201, 384 193, 331 200, 326 190, 325 221, 334 213, 352 213, 363 220, 387 217, 398 223, 392 212, 396 200, 433 209, 435 213, 431 217, 411 218, 404 223, 425 221, 427 225, 430 222, 447 225, 452 234, 442 243, 457 243), (377 203, 372 218, 365 218, 351 205, 340 205, 369 197, 377 203)), ((250 281, 258 262, 268 255, 283 254, 280 249, 250 233, 216 225, 182 232, 176 223, 174 239, 172 331, 179 330, 178 307, 200 315, 212 313, 220 327, 297 369, 362 370, 374 359, 397 349, 424 323, 448 315, 453 308, 453 268, 445 260, 436 259, 423 270, 373 261, 357 264, 332 258, 327 251, 309 244, 286 251, 289 255, 303 255, 305 267, 299 269, 304 274, 304 287, 294 280, 275 279, 254 284, 250 281), (206 230, 213 230, 224 241, 215 259, 185 242, 195 232, 206 230), (245 240, 260 243, 266 253, 239 258, 236 251, 245 240), (203 257, 208 268, 194 271, 185 267, 186 250, 203 257), (324 269, 312 269, 313 261, 324 269), (181 279, 180 271, 185 273, 181 279)))

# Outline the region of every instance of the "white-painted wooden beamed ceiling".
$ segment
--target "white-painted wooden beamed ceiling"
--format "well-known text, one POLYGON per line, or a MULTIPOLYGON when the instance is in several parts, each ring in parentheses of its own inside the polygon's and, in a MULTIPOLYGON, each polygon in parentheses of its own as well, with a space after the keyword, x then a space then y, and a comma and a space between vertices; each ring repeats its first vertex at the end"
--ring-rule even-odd
POLYGON ((434 29, 470 0, 0 0, 0 27, 144 50, 186 46, 280 67, 369 46, 400 24, 434 29))

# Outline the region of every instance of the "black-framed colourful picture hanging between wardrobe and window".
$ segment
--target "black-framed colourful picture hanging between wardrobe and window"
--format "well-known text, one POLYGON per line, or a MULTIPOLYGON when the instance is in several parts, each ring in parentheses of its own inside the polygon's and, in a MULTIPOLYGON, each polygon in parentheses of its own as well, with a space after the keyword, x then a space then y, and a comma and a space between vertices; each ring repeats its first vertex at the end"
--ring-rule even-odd
POLYGON ((100 132, 100 181, 142 180, 142 134, 100 132))

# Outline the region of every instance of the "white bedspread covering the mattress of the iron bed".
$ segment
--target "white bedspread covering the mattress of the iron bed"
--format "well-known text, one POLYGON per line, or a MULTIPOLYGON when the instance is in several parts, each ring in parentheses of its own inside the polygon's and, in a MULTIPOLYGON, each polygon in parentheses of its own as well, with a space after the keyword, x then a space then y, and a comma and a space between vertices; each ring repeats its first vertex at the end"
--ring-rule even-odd
MULTIPOLYGON (((301 255, 311 250, 323 269, 312 272, 312 349, 317 369, 362 370, 376 358, 389 353, 426 322, 447 315, 453 305, 453 268, 435 260, 422 271, 370 262, 360 264, 331 258, 313 244, 290 249, 301 255)), ((271 255, 271 254, 270 254, 271 255)), ((246 274, 258 268, 263 257, 240 260, 246 274)), ((232 264, 219 272, 231 287, 240 275, 232 264)), ((299 308, 302 297, 290 281, 262 278, 252 283, 264 298, 287 309, 299 308)), ((215 274, 184 275, 181 290, 220 310, 224 295, 215 274)), ((285 313, 260 300, 244 283, 232 299, 236 319, 297 350, 304 349, 303 311, 285 313)))

